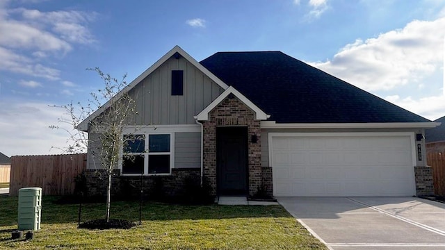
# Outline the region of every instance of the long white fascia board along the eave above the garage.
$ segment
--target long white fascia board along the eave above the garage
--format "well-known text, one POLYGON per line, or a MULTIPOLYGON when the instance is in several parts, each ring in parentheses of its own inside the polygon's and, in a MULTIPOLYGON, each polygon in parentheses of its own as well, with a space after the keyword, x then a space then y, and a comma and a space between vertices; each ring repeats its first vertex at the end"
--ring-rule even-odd
POLYGON ((440 122, 288 123, 261 121, 261 128, 434 128, 440 122))

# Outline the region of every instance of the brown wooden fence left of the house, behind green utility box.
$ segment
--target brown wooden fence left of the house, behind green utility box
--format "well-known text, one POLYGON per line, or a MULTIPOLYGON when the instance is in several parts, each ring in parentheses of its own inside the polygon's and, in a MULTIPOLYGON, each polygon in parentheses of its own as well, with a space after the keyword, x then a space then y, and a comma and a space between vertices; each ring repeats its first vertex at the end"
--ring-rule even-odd
POLYGON ((44 195, 74 193, 74 178, 86 169, 86 154, 56 156, 13 156, 10 196, 20 188, 40 187, 44 195))

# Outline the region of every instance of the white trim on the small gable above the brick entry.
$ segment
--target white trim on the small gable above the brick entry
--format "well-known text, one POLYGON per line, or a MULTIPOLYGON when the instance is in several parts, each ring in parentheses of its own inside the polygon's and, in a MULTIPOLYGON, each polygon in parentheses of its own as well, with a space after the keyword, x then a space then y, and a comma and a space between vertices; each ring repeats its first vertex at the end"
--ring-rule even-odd
POLYGON ((238 92, 238 90, 236 90, 235 88, 230 86, 229 88, 227 88, 227 90, 225 90, 223 93, 221 93, 218 96, 218 98, 213 100, 209 104, 209 106, 207 106, 206 108, 204 108, 204 110, 202 110, 199 114, 197 114, 195 116, 195 119, 197 119, 198 121, 207 121, 209 119, 210 111, 213 110, 213 108, 215 108, 216 106, 218 106, 218 104, 221 101, 224 101, 224 99, 227 96, 229 96, 229 94, 234 94, 234 96, 238 97, 238 99, 241 102, 243 102, 245 104, 245 106, 248 106, 251 110, 253 110, 253 112, 255 113, 255 119, 266 120, 266 119, 269 118, 269 115, 264 113, 263 110, 258 108, 254 103, 252 103, 252 101, 250 101, 249 99, 245 98, 245 96, 243 94, 241 94, 240 92, 238 92))

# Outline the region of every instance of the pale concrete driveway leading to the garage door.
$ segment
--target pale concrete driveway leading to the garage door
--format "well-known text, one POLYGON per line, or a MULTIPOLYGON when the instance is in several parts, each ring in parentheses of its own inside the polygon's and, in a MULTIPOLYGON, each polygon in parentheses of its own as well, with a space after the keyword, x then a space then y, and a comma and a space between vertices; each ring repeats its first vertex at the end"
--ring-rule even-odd
POLYGON ((278 197, 330 249, 445 249, 445 204, 415 197, 278 197))

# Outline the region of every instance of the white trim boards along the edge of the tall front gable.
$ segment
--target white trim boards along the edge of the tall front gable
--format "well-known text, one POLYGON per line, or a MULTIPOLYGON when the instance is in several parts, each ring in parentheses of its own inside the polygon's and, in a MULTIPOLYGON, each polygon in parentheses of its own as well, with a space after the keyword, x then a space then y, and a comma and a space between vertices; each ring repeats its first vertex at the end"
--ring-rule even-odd
POLYGON ((165 53, 165 55, 163 57, 161 57, 159 60, 157 60, 156 63, 154 63, 148 69, 145 69, 145 72, 143 72, 136 79, 131 81, 131 83, 129 83, 129 85, 127 85, 127 87, 125 87, 121 92, 116 94, 115 97, 113 97, 111 100, 107 101, 103 106, 101 106, 94 113, 92 113, 90 116, 88 116, 86 119, 84 119, 76 128, 81 131, 87 131, 88 123, 92 119, 95 119, 95 117, 97 117, 97 115, 100 115, 102 112, 104 112, 104 110, 106 110, 106 108, 108 108, 111 105, 111 103, 113 103, 113 101, 120 99, 120 97, 122 97, 123 94, 129 92, 129 90, 131 90, 136 85, 138 85, 138 83, 140 83, 140 81, 143 81, 143 79, 145 77, 147 77, 149 74, 152 74, 152 72, 154 72, 159 66, 161 66, 163 63, 165 63, 165 61, 170 59, 172 56, 177 56, 178 53, 179 53, 179 55, 184 57, 186 60, 188 60, 188 62, 190 62, 193 66, 197 67, 197 69, 200 69, 200 71, 202 73, 209 76, 209 78, 211 78, 211 80, 214 81, 216 84, 220 85, 221 88, 223 88, 223 89, 229 88, 229 86, 227 86, 223 81, 221 81, 218 77, 216 77, 214 74, 209 72, 208 69, 203 67, 200 63, 198 63, 197 60, 195 60, 195 58, 188 55, 188 53, 186 53, 186 51, 181 49, 181 47, 175 46, 175 47, 173 47, 173 49, 171 49, 170 51, 165 53))

